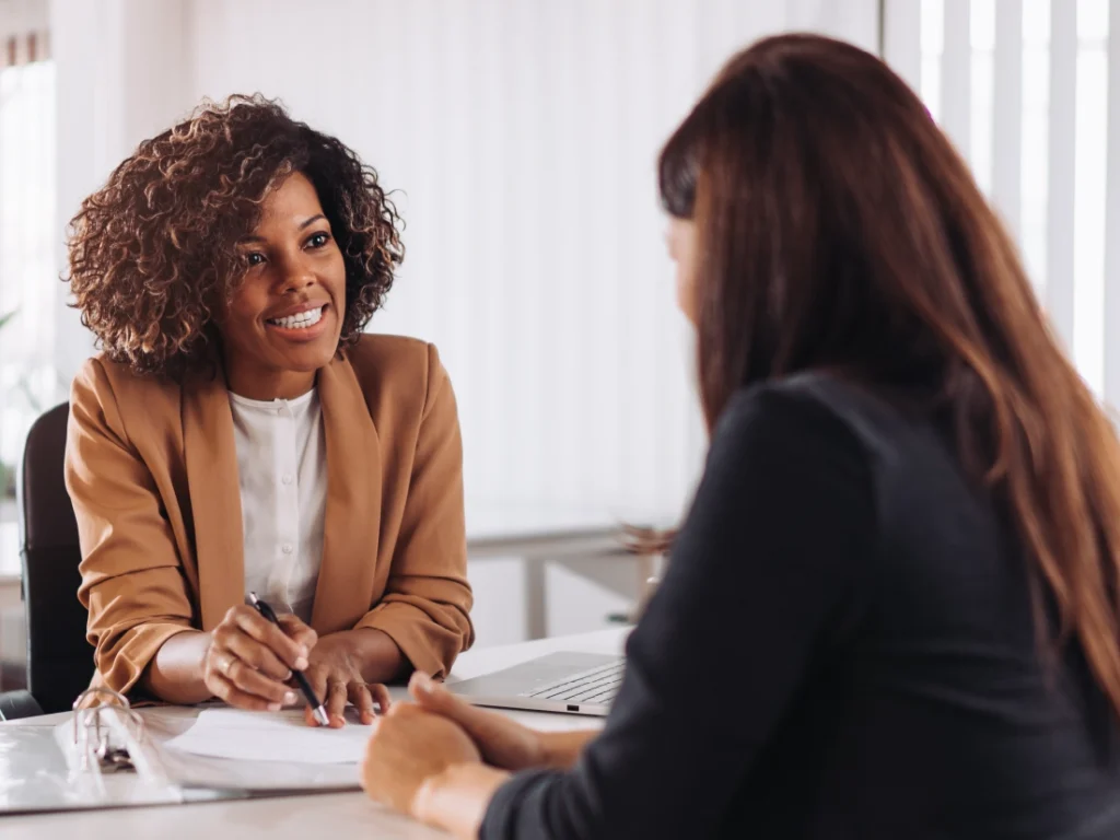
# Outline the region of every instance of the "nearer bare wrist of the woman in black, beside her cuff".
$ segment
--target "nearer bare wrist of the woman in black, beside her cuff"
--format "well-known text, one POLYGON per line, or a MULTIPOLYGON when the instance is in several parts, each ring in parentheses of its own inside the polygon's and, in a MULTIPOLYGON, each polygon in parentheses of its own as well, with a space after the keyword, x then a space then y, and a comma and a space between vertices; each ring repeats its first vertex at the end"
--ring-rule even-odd
POLYGON ((494 792, 507 778, 505 771, 484 764, 452 765, 417 791, 412 816, 460 840, 475 840, 494 792))

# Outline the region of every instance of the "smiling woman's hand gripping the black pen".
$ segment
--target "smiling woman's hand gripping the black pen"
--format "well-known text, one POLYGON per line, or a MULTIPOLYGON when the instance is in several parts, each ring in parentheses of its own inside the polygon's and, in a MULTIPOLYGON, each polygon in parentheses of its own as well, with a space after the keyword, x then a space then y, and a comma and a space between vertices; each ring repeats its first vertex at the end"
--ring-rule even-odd
POLYGON ((306 670, 318 637, 293 615, 280 626, 248 605, 231 607, 213 632, 203 662, 203 681, 214 697, 239 709, 276 711, 304 702, 286 684, 292 670, 306 670))

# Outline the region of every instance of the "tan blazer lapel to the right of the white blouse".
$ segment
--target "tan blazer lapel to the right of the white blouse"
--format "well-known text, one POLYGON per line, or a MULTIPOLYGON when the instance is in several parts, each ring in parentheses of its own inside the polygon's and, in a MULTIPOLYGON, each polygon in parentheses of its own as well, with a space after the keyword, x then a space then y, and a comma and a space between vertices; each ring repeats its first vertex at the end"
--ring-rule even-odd
POLYGON ((311 626, 324 635, 353 627, 370 609, 381 529, 381 458, 365 394, 344 355, 319 371, 318 388, 327 510, 311 626))

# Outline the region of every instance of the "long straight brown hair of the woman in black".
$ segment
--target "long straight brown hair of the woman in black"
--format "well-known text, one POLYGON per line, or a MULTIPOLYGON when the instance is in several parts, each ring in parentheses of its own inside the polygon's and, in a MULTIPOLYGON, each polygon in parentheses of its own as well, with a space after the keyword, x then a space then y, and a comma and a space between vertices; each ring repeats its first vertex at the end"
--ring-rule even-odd
POLYGON ((736 389, 806 368, 927 384, 1030 558, 1040 633, 1045 601, 1120 713, 1120 446, 918 97, 851 45, 759 41, 669 140, 660 186, 698 228, 709 427, 736 389))

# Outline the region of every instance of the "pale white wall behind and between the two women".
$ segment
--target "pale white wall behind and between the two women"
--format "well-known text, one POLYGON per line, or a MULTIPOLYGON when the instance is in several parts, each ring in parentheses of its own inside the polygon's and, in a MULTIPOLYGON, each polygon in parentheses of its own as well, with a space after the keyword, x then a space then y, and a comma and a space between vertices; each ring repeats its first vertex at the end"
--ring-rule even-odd
MULTIPOLYGON (((63 217, 199 97, 281 97, 400 190, 408 254, 374 328, 439 346, 460 402, 469 504, 633 517, 675 516, 704 448, 691 336, 662 244, 659 147, 736 49, 790 28, 875 49, 878 9, 101 0, 94 12, 88 0, 53 2, 63 217)), ((85 351, 78 340, 62 353, 85 351)), ((508 624, 498 615, 507 599, 487 587, 511 584, 492 568, 476 582, 496 627, 508 624)), ((564 587, 587 620, 619 606, 564 587)), ((571 614, 558 622, 575 628, 571 614)))

